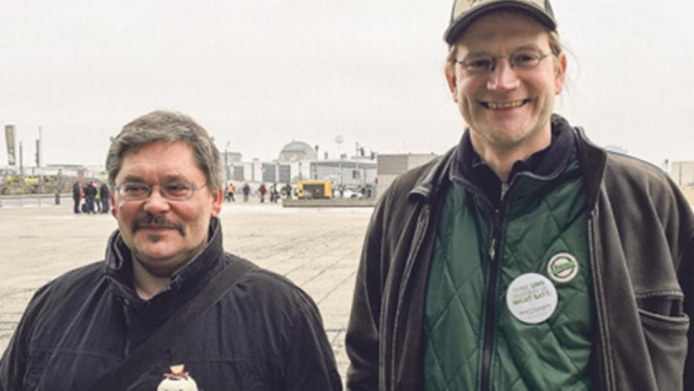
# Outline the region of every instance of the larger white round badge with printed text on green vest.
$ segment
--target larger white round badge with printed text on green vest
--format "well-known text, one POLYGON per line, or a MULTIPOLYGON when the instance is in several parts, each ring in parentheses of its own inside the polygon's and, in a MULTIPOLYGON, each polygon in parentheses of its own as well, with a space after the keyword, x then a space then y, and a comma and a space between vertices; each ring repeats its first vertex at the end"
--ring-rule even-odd
POLYGON ((516 319, 537 325, 556 309, 556 289, 552 281, 537 273, 519 275, 506 291, 506 306, 516 319))

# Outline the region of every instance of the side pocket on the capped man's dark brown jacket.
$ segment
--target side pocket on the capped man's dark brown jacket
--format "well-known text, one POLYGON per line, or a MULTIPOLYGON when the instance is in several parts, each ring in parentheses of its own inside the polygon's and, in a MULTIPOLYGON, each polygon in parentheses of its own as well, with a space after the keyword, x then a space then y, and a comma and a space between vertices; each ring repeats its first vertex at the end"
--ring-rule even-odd
POLYGON ((658 390, 682 390, 689 317, 684 313, 662 315, 642 308, 638 314, 658 390))

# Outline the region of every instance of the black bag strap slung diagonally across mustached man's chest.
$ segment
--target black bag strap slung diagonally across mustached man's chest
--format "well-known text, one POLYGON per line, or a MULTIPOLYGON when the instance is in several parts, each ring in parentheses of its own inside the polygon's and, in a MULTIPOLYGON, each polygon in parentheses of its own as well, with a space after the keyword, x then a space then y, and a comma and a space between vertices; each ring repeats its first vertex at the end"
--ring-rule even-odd
POLYGON ((178 341, 185 332, 195 324, 217 301, 236 285, 246 272, 257 268, 255 264, 243 258, 228 265, 224 270, 209 280, 205 288, 193 299, 185 303, 171 318, 159 326, 145 342, 129 354, 114 371, 104 376, 92 390, 123 391, 128 390, 138 378, 154 365, 159 357, 178 341))

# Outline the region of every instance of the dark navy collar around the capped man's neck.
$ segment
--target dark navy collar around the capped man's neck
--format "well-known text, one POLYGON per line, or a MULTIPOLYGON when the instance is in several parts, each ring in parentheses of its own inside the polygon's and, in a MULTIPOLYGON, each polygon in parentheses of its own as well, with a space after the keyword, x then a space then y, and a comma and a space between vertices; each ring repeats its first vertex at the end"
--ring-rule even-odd
MULTIPOLYGON (((576 144, 576 137, 571 125, 563 117, 554 114, 551 121, 552 142, 547 148, 530 155, 525 162, 518 160, 513 163, 506 183, 510 183, 520 172, 528 171, 537 176, 550 176, 559 167, 564 167, 563 163, 571 155, 571 150, 576 144)), ((469 128, 465 130, 461 142, 458 143, 455 162, 451 164, 449 176, 453 182, 479 189, 494 207, 499 207, 504 183, 475 152, 469 128)))

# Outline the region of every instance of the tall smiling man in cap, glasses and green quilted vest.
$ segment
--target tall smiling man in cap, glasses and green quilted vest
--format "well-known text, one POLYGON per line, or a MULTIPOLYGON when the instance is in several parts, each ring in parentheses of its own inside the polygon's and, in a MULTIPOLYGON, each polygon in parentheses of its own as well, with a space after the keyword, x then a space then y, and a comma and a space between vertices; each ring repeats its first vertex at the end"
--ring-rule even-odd
POLYGON ((446 79, 466 128, 367 231, 348 390, 694 390, 694 217, 656 167, 552 114, 549 1, 458 0, 446 79))

